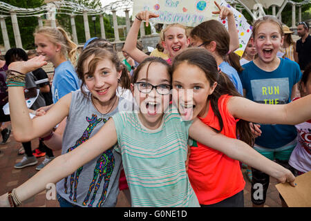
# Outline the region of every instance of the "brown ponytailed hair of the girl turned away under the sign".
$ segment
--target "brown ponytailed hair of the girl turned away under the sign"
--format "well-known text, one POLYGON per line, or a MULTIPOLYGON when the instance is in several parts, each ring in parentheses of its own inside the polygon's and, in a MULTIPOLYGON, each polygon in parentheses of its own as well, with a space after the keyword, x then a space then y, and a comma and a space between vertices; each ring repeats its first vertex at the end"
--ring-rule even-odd
POLYGON ((216 52, 220 57, 227 61, 238 72, 243 68, 240 64, 240 57, 234 52, 229 51, 230 37, 225 26, 216 20, 209 20, 200 23, 190 32, 190 37, 200 38, 205 45, 216 42, 216 52))

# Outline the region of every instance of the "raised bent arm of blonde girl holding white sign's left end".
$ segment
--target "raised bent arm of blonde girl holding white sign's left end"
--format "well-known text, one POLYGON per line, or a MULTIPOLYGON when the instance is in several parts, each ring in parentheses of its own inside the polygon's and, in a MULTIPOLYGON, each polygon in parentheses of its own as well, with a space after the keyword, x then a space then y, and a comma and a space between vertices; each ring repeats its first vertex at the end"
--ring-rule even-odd
POLYGON ((142 21, 146 21, 146 26, 148 26, 149 19, 154 17, 158 17, 158 15, 153 14, 149 11, 138 12, 138 14, 135 16, 129 33, 127 34, 123 50, 138 63, 141 63, 145 58, 149 56, 136 48, 140 24, 142 23, 142 21))

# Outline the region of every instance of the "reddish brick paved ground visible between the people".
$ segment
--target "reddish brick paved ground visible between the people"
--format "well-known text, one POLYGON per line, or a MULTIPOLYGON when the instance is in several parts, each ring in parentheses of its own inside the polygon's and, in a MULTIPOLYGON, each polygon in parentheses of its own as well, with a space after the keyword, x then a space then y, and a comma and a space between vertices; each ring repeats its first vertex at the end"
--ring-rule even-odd
MULTIPOLYGON (((10 126, 10 123, 4 124, 5 126, 10 126)), ((32 141, 32 148, 37 148, 38 140, 32 141)), ((28 166, 24 169, 15 169, 14 165, 21 160, 23 156, 17 155, 17 151, 21 147, 21 144, 14 140, 12 133, 10 135, 10 140, 7 144, 0 145, 0 195, 10 191, 11 189, 19 186, 26 180, 28 180, 32 175, 35 175, 37 171, 36 166, 28 166)), ((58 156, 61 152, 55 151, 54 155, 58 156)), ((38 159, 38 164, 44 160, 44 157, 38 159)), ((252 206, 250 201, 250 183, 245 175, 245 169, 243 169, 244 178, 246 180, 246 185, 244 189, 244 204, 245 207, 252 206)), ((265 206, 269 207, 280 207, 281 200, 279 199, 279 193, 275 188, 276 180, 270 179, 270 186, 267 191, 267 200, 265 206)), ((57 200, 46 200, 46 191, 43 191, 30 198, 21 205, 23 207, 59 207, 57 200)), ((129 202, 126 200, 124 193, 120 193, 118 197, 117 206, 129 206, 129 202)))

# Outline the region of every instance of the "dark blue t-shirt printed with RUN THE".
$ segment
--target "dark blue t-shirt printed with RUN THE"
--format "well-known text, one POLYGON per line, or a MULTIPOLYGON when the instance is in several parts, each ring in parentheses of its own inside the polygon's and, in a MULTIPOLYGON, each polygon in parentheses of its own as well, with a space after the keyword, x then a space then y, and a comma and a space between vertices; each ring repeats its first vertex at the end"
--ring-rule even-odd
MULTIPOLYGON (((261 104, 288 104, 292 87, 301 79, 299 65, 282 59, 279 67, 272 72, 258 68, 254 61, 243 65, 241 81, 246 90, 246 98, 261 104)), ((297 133, 292 125, 261 124, 261 136, 255 143, 265 148, 279 148, 292 142, 297 133)))

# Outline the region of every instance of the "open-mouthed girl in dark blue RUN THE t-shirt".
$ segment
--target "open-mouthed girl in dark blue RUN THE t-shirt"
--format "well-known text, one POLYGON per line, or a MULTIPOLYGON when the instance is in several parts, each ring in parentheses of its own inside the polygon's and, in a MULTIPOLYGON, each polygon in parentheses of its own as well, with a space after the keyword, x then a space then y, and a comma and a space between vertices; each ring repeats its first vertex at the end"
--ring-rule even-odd
MULTIPOLYGON (((252 41, 257 50, 256 59, 243 65, 241 81, 245 97, 261 104, 288 104, 297 90, 297 82, 301 78, 298 64, 294 61, 276 56, 283 45, 283 29, 281 23, 273 16, 258 19, 252 29, 252 41)), ((253 127, 259 135, 255 140, 255 150, 279 164, 290 168, 288 160, 296 146, 296 129, 290 125, 261 124, 253 127)), ((263 206, 269 175, 252 170, 252 202, 253 206, 263 206), (263 198, 254 198, 254 184, 263 185, 263 198)))

